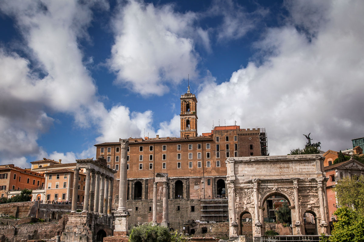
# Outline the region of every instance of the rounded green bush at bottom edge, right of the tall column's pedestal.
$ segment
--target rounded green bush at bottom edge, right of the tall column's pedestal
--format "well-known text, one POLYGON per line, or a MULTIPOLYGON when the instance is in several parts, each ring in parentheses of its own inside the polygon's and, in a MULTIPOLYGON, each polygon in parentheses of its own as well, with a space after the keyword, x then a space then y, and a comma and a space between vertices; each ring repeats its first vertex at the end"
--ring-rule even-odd
POLYGON ((169 242, 171 234, 165 226, 146 223, 132 228, 129 242, 169 242))

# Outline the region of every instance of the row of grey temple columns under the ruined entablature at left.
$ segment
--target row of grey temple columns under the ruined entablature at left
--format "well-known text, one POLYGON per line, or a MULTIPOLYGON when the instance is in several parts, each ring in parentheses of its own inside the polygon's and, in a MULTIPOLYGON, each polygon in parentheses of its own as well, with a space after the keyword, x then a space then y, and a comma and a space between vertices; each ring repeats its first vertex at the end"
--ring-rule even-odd
MULTIPOLYGON (((80 168, 74 169, 71 212, 77 211, 79 170, 80 168)), ((86 168, 86 184, 82 212, 93 212, 111 216, 113 180, 113 177, 95 171, 95 169, 86 168)))

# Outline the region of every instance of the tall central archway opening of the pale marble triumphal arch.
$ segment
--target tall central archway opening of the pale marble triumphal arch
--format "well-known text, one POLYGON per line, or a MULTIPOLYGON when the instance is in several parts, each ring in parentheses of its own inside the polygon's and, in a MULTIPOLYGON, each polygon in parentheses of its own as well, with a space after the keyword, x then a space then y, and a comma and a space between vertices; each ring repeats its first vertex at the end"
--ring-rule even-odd
POLYGON ((272 224, 271 230, 275 227, 276 232, 280 235, 293 234, 292 227, 290 227, 292 225, 292 211, 289 206, 291 206, 290 201, 284 194, 279 192, 270 193, 263 202, 264 224, 272 224))

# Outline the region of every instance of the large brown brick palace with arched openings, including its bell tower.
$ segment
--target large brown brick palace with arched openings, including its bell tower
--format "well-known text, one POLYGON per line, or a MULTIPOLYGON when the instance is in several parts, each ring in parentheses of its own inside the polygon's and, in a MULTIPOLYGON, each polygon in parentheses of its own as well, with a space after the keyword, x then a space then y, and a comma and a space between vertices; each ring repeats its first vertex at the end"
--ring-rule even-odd
MULTIPOLYGON (((129 138, 127 152, 127 206, 129 224, 152 220, 156 173, 169 177, 169 219, 173 228, 183 221, 226 221, 226 164, 228 157, 268 155, 265 130, 240 126, 215 127, 197 135, 197 99, 188 90, 181 95, 181 138, 129 138)), ((96 157, 119 170, 120 143, 95 144, 96 157)), ((119 178, 119 173, 115 174, 119 178)), ((162 221, 163 185, 157 184, 157 221, 162 221)), ((117 208, 119 182, 114 182, 113 209, 117 208)))

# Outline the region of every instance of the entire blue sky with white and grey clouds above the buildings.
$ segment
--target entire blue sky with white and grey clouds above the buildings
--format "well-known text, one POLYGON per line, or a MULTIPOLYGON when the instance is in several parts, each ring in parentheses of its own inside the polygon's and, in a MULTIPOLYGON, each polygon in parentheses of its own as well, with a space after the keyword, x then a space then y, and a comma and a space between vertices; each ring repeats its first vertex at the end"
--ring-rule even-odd
POLYGON ((364 1, 0 2, 0 164, 95 157, 94 144, 265 128, 270 155, 364 136, 364 1))

